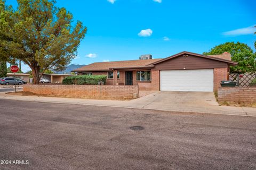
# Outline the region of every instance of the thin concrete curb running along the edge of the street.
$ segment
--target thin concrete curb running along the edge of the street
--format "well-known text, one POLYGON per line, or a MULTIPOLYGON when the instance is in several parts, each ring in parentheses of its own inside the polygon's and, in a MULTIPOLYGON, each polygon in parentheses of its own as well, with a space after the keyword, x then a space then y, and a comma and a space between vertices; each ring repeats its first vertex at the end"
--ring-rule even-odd
POLYGON ((143 109, 143 110, 151 110, 151 111, 164 111, 164 112, 179 112, 179 113, 190 113, 190 114, 214 114, 214 115, 228 115, 228 116, 243 116, 243 117, 256 117, 256 115, 246 115, 246 114, 223 114, 223 113, 211 113, 211 112, 194 112, 194 111, 178 111, 175 109, 154 109, 154 108, 141 108, 141 107, 129 107, 129 106, 113 106, 113 105, 99 105, 99 104, 84 104, 81 101, 77 103, 70 103, 70 102, 61 102, 61 101, 45 101, 45 100, 38 100, 38 99, 12 99, 0 97, 0 99, 7 99, 7 100, 18 100, 18 101, 31 101, 31 102, 39 102, 39 103, 55 103, 55 104, 73 104, 73 105, 85 105, 85 106, 101 106, 101 107, 116 107, 116 108, 130 108, 130 109, 143 109))

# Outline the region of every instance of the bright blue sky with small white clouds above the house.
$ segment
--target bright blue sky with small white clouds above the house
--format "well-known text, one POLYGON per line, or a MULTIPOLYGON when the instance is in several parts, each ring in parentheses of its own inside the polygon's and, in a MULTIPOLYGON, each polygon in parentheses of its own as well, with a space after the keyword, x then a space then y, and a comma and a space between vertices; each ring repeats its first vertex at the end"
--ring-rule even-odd
POLYGON ((254 49, 256 40, 253 0, 57 0, 57 6, 88 28, 72 64, 137 60, 141 54, 163 58, 183 50, 202 54, 228 41, 254 49))

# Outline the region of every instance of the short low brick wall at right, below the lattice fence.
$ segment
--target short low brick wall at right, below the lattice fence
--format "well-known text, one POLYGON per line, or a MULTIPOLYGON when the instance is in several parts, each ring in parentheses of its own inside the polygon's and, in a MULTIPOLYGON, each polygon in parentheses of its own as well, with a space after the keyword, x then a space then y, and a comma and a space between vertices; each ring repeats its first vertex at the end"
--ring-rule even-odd
POLYGON ((256 103, 256 87, 220 87, 218 89, 219 102, 256 103))

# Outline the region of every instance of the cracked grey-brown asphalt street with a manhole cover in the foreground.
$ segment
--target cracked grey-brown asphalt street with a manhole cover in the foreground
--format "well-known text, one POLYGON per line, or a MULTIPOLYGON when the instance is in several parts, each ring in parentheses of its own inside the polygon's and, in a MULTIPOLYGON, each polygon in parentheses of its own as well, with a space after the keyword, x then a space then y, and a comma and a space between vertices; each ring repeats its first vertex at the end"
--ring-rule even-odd
POLYGON ((256 117, 3 99, 0 108, 0 169, 256 169, 256 117))

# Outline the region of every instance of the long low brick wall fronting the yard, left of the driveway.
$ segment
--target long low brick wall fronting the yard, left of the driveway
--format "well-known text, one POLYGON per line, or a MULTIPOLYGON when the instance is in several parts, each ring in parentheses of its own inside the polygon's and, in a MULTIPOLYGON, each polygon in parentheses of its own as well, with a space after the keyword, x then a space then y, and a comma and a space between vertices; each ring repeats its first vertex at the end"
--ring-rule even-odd
POLYGON ((138 98, 138 86, 91 86, 91 85, 54 85, 24 84, 24 92, 51 97, 71 97, 90 99, 134 99, 138 98))

